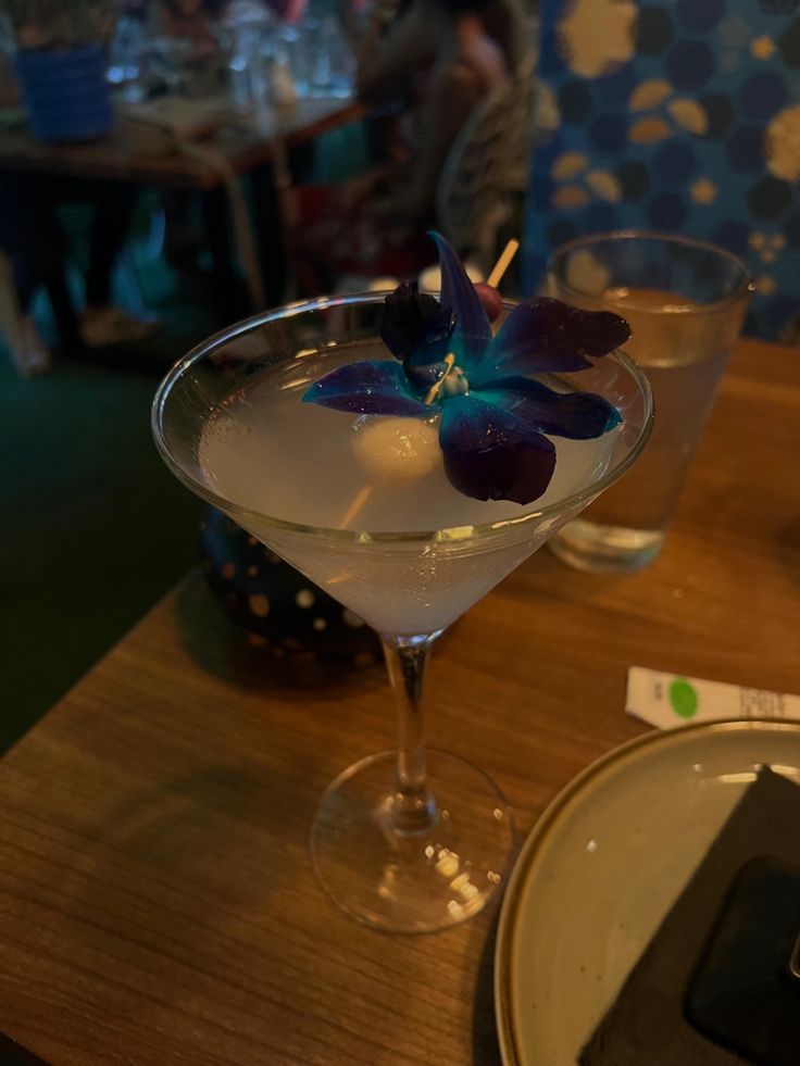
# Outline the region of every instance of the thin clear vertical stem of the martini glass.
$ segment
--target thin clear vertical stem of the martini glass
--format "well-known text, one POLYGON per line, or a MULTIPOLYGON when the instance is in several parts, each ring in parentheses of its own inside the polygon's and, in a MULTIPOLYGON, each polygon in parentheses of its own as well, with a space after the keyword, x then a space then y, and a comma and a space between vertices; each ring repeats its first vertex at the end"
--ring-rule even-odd
POLYGON ((398 715, 397 793, 393 828, 415 832, 434 820, 423 742, 423 687, 430 648, 438 632, 421 637, 382 637, 398 715))

